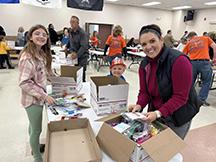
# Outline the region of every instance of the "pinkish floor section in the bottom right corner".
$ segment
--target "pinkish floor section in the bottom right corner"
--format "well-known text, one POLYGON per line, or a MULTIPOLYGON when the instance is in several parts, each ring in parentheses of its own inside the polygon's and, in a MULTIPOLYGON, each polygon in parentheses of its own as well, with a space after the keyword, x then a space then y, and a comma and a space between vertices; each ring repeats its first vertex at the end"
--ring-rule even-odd
POLYGON ((216 161, 216 123, 191 130, 185 142, 187 147, 182 151, 184 162, 216 161))

